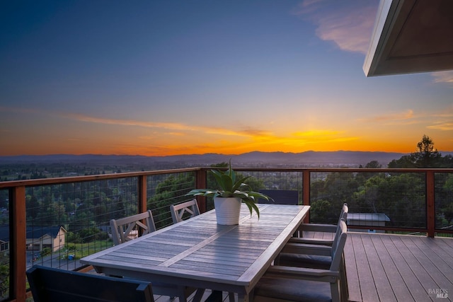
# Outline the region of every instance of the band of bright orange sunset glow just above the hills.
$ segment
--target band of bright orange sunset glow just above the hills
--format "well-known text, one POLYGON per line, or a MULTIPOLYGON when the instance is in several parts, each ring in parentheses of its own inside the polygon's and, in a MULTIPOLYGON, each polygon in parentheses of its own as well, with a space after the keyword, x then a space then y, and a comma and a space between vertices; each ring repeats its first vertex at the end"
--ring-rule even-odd
MULTIPOLYGON (((343 132, 319 131, 294 132, 287 137, 271 134, 256 134, 249 137, 220 135, 203 137, 187 133, 172 135, 168 139, 136 139, 105 136, 101 139, 68 139, 47 141, 42 144, 40 138, 30 139, 26 144, 19 141, 2 148, 0 156, 46 155, 46 154, 116 154, 142 156, 174 156, 183 154, 223 153, 238 155, 252 151, 302 153, 305 151, 379 151, 411 153, 416 151, 420 137, 391 137, 378 139, 369 137, 348 137, 343 132), (222 138, 222 139, 221 139, 222 138), (372 139, 376 139, 372 141, 372 139)), ((431 136, 430 136, 431 137, 431 136)), ((431 137, 439 151, 452 151, 452 139, 431 137), (442 144, 439 144, 442 142, 442 144)), ((12 139, 13 140, 13 139, 12 139)))

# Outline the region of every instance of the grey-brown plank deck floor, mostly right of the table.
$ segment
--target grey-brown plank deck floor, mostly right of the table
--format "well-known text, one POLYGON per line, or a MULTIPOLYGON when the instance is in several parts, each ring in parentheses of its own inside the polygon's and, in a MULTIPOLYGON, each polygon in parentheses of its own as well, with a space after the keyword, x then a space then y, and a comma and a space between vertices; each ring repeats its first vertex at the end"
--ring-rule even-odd
MULTIPOLYGON (((345 258, 350 301, 453 301, 453 238, 350 232, 345 258)), ((229 301, 226 293, 222 300, 229 301)))

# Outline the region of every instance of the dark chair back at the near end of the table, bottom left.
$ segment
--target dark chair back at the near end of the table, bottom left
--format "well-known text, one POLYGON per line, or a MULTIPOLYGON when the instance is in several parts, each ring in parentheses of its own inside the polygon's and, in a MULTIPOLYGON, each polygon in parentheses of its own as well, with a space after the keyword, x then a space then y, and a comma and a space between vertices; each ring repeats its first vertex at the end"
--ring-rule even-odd
POLYGON ((26 272, 35 302, 153 302, 151 283, 35 265, 26 272))

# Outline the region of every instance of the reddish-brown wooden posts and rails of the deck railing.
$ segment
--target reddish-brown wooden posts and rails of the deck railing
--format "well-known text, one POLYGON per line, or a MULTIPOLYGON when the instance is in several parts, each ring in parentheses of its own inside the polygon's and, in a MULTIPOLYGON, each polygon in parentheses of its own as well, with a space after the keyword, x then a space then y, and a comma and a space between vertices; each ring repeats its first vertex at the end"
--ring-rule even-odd
MULTIPOLYGON (((149 187, 148 179, 156 175, 177 175, 178 173, 193 173, 194 181, 192 188, 207 187, 209 178, 207 177, 207 168, 185 168, 176 170, 156 170, 144 171, 134 173, 117 173, 109 175, 90 175, 90 176, 76 176, 68 178, 45 178, 38 180, 18 180, 0 182, 0 190, 8 191, 8 204, 9 204, 9 291, 8 296, 4 297, 4 301, 25 301, 26 283, 25 283, 25 270, 26 270, 26 235, 25 230, 27 227, 27 217, 25 208, 25 192, 30 187, 44 187, 50 185, 63 185, 63 184, 76 184, 81 182, 96 182, 106 180, 118 179, 136 179, 137 180, 137 210, 146 211, 149 206, 149 187)), ((374 229, 384 231, 413 231, 426 233, 428 236, 433 237, 435 233, 453 233, 451 230, 442 230, 436 228, 436 175, 443 175, 446 178, 451 178, 453 182, 453 169, 365 169, 365 168, 235 168, 241 173, 252 175, 258 179, 263 180, 263 183, 270 182, 270 176, 275 173, 281 173, 287 176, 287 182, 293 182, 292 175, 298 175, 297 183, 291 185, 293 188, 301 192, 301 203, 311 204, 311 199, 314 198, 311 185, 314 183, 315 175, 323 175, 321 179, 326 179, 326 175, 338 173, 386 173, 388 175, 401 174, 401 173, 417 173, 423 175, 425 187, 423 194, 425 195, 425 223, 423 226, 416 228, 407 228, 401 226, 373 226, 374 229), (299 175, 300 178, 299 178, 299 175)), ((442 183, 443 185, 443 183, 442 183)), ((188 188, 190 190, 190 188, 188 188)), ((448 190, 448 189, 447 189, 448 190)), ((186 190, 187 191, 187 190, 186 190)), ((183 194, 182 194, 183 195, 183 194)), ((447 202, 453 204, 453 194, 449 194, 447 202)), ((207 199, 198 197, 200 211, 208 209, 207 199)), ((453 205, 451 206, 453 208, 453 205)), ((423 220, 423 219, 422 219, 423 220)), ((366 226, 357 226, 357 228, 367 228, 366 226)))

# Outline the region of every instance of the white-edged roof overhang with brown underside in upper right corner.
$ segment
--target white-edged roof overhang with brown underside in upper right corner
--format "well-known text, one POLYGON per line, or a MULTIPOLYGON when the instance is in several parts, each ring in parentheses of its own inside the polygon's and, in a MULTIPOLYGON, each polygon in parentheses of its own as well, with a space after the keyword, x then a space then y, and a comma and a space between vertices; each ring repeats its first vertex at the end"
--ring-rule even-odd
POLYGON ((366 76, 453 69, 453 0, 381 0, 366 76))

